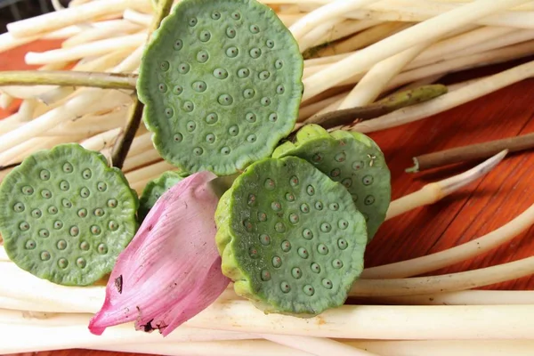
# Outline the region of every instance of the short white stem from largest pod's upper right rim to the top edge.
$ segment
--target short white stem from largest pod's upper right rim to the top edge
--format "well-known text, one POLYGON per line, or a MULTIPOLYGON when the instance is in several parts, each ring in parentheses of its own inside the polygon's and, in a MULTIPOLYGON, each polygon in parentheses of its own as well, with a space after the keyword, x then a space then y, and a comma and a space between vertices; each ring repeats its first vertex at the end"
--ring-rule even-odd
POLYGON ((362 6, 372 4, 376 0, 337 0, 333 3, 320 7, 314 12, 306 14, 289 28, 295 39, 298 41, 313 28, 320 24, 343 16, 346 12, 359 9, 362 6))

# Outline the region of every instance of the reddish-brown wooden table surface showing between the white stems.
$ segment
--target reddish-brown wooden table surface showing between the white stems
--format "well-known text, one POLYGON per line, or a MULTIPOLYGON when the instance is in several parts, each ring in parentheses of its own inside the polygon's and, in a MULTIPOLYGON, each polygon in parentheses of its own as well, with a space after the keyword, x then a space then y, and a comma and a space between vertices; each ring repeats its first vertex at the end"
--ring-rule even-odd
MULTIPOLYGON (((53 48, 57 43, 22 46, 0 53, 0 70, 28 69, 23 54, 53 48)), ((530 59, 532 60, 532 59, 530 59)), ((517 61, 513 64, 520 63, 517 61)), ((511 64, 483 69, 487 74, 511 64)), ((446 81, 473 77, 473 72, 457 73, 446 81)), ((441 168, 425 174, 406 174, 411 158, 435 150, 471 143, 497 140, 534 132, 534 78, 492 93, 477 101, 428 117, 409 125, 369 134, 384 150, 392 172, 392 198, 400 198, 434 182, 457 174, 473 163, 441 168)), ((11 108, 14 110, 13 108, 11 108)), ((0 110, 0 117, 7 115, 0 110)), ((534 153, 522 152, 507 157, 494 171, 463 190, 392 219, 380 228, 368 246, 366 266, 393 263, 457 246, 497 229, 534 204, 534 153)), ((466 271, 511 262, 534 254, 532 229, 505 246, 471 261, 458 263, 434 273, 466 271)), ((533 289, 534 276, 486 288, 533 289)), ((118 356, 118 352, 66 350, 38 352, 38 356, 118 356)), ((29 355, 29 354, 25 354, 29 355)), ((32 353, 32 355, 34 355, 32 353)))

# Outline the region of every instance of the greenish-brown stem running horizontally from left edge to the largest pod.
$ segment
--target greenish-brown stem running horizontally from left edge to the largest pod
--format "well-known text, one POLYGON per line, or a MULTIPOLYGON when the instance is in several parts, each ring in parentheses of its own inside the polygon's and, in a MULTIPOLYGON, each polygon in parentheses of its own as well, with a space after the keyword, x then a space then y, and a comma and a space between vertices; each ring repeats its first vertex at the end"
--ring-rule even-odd
POLYGON ((0 71, 0 86, 62 85, 91 86, 101 89, 135 89, 134 74, 79 72, 72 70, 10 70, 0 71))

